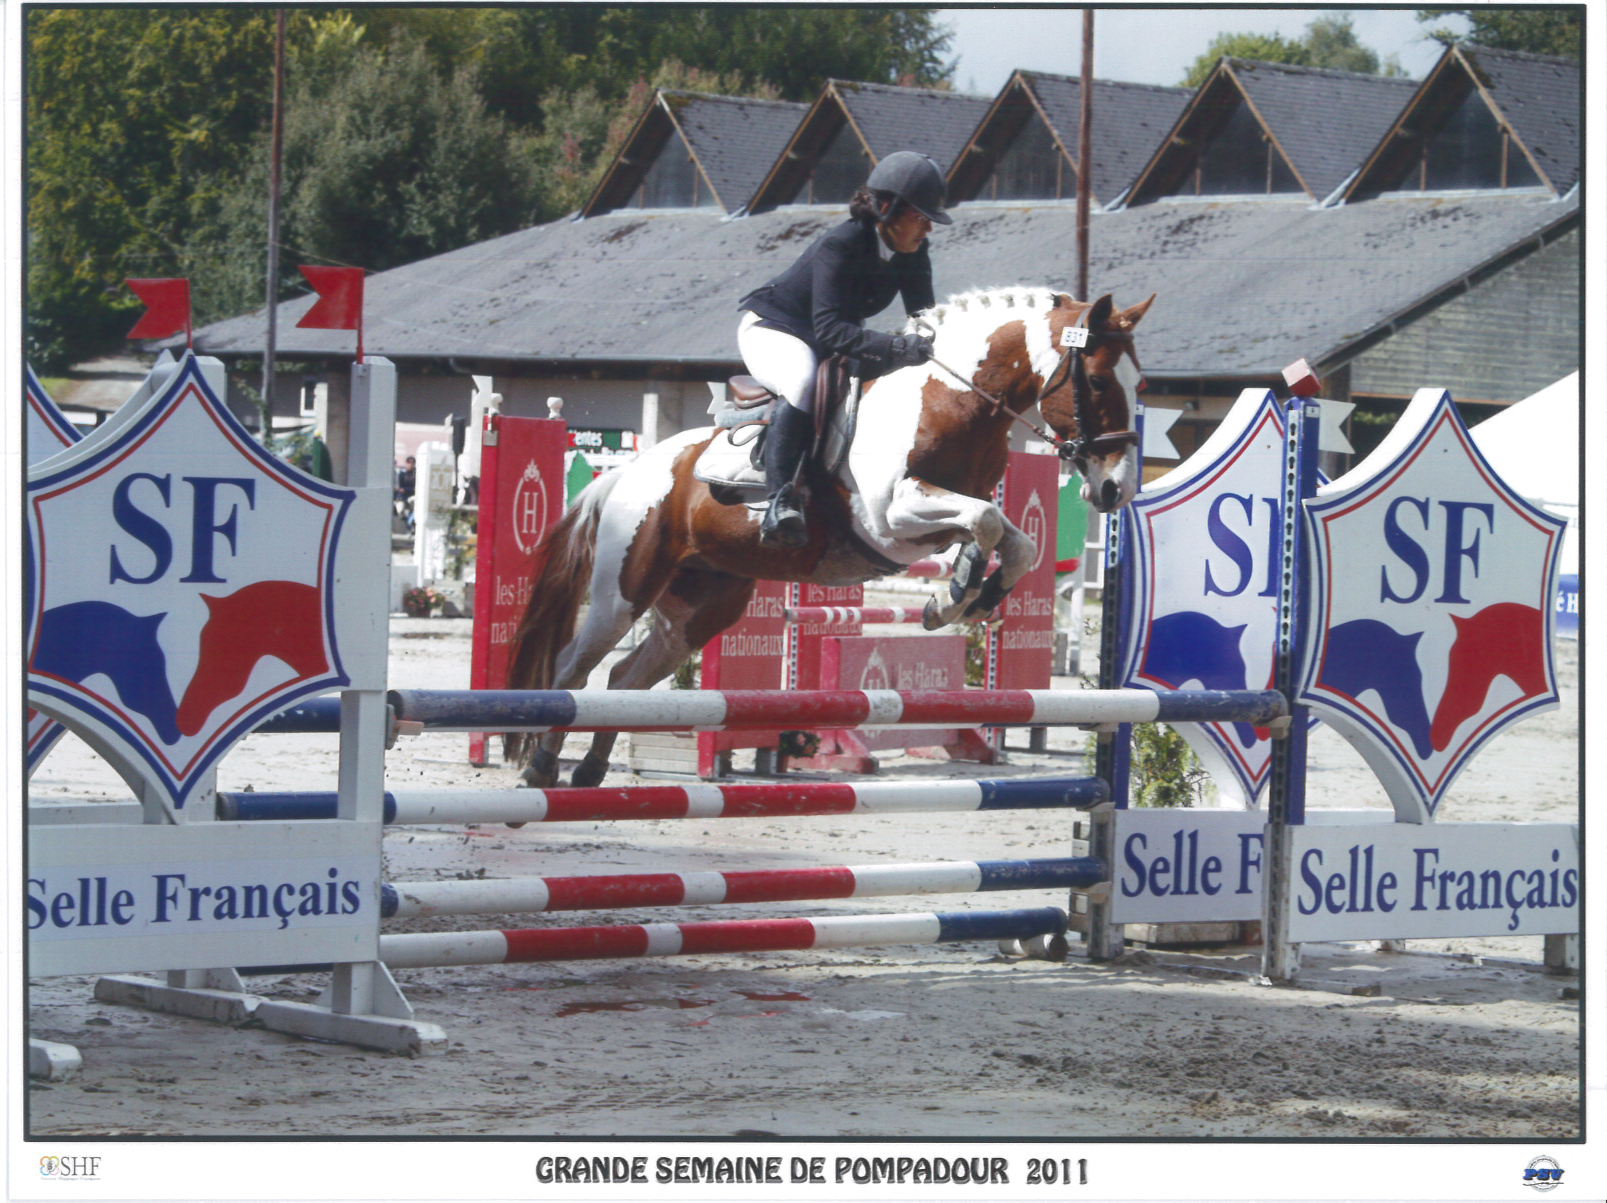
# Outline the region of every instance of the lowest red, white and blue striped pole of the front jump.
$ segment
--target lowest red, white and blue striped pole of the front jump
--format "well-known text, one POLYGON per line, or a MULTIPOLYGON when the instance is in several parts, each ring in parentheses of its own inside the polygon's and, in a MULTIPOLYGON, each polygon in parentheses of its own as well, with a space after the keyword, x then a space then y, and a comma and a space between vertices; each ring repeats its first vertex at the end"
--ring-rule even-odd
POLYGON ((826 919, 733 919, 709 924, 550 927, 516 932, 429 932, 379 936, 391 969, 509 965, 694 952, 778 952, 956 940, 1032 940, 1065 932, 1065 911, 953 911, 826 919))

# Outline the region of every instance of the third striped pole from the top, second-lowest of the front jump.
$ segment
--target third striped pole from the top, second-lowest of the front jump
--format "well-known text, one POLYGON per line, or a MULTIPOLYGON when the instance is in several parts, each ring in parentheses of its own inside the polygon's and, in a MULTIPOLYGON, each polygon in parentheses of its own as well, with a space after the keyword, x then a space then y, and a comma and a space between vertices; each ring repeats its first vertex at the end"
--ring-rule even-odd
POLYGON ((382 919, 429 916, 609 911, 633 906, 802 903, 887 895, 971 895, 995 890, 1090 890, 1107 880, 1093 856, 1043 861, 937 861, 813 869, 689 874, 609 874, 466 882, 394 882, 381 887, 382 919))

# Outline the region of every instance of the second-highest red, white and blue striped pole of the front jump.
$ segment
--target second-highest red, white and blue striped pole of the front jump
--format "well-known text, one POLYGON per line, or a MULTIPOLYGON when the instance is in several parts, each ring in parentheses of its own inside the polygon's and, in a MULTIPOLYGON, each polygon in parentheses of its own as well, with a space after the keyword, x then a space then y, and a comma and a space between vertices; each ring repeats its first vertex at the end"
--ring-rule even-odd
MULTIPOLYGON (((607 822, 1091 809, 1109 797, 1110 787, 1099 777, 397 790, 386 793, 384 821, 387 824, 607 822)), ((334 808, 334 793, 219 793, 217 798, 217 818, 227 822, 333 819, 334 808)))

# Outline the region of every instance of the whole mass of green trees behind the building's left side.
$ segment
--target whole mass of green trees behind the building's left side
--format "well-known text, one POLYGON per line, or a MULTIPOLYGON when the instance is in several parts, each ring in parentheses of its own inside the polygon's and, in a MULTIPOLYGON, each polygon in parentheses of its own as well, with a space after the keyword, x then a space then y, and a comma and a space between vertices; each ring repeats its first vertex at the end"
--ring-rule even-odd
MULTIPOLYGON (((556 217, 654 85, 805 100, 826 77, 953 74, 919 8, 292 8, 288 24, 289 265, 378 270, 556 217)), ((188 275, 199 321, 259 307, 273 10, 34 8, 24 31, 35 366, 116 345, 130 275, 188 275)))

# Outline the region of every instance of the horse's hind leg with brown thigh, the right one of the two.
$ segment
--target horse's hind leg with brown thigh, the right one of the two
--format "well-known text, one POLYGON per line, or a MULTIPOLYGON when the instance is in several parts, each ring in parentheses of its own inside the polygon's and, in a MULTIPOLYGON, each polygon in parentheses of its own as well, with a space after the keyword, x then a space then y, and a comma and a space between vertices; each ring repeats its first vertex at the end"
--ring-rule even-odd
MULTIPOLYGON (((609 689, 651 689, 714 636, 742 617, 754 581, 720 572, 681 569, 659 594, 652 631, 609 671, 609 689)), ((575 768, 572 785, 598 785, 607 773, 617 731, 599 731, 575 768)))

